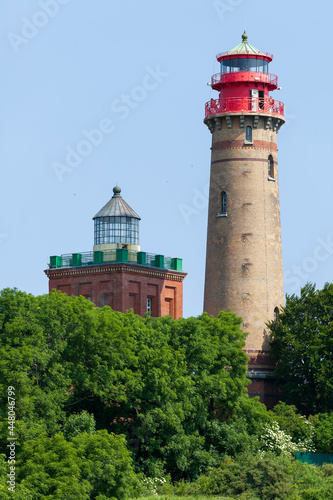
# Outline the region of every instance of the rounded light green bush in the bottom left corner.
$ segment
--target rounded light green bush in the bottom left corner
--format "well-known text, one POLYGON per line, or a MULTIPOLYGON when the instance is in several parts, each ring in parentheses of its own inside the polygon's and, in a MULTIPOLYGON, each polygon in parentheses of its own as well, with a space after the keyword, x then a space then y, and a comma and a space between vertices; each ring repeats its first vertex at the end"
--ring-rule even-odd
MULTIPOLYGON (((82 433, 67 441, 44 433, 17 444, 15 498, 64 500, 128 498, 140 489, 124 436, 106 430, 82 433)), ((3 467, 5 469, 5 467, 3 467)), ((13 498, 0 476, 1 499, 13 498)))

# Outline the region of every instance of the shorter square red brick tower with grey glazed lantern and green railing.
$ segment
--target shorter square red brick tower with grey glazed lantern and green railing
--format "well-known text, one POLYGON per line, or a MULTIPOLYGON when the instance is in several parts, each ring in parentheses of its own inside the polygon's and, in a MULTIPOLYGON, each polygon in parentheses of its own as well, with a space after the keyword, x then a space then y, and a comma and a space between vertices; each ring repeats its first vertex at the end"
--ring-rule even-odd
POLYGON ((99 307, 144 316, 183 315, 182 259, 142 252, 140 217, 116 186, 95 215, 92 252, 54 255, 45 274, 49 290, 83 295, 99 307))

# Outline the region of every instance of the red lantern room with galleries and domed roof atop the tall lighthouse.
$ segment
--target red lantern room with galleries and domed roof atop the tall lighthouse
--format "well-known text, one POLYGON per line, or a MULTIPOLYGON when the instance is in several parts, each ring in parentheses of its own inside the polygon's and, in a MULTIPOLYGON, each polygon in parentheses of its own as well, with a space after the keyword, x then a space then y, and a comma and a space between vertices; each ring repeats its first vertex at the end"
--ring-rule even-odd
POLYGON ((269 113, 284 115, 284 105, 269 96, 278 88, 278 78, 269 73, 273 55, 261 52, 247 41, 216 56, 221 72, 212 76, 211 87, 220 95, 206 103, 206 118, 220 113, 269 113))

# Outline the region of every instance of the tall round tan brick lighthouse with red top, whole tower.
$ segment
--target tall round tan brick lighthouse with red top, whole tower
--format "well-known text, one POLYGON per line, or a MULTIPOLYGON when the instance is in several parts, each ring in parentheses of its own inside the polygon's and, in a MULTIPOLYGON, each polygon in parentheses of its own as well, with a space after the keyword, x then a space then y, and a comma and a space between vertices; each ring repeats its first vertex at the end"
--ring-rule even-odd
POLYGON ((270 406, 277 388, 266 323, 284 302, 276 141, 284 106, 270 96, 278 88, 273 56, 247 38, 217 55, 211 86, 219 96, 205 109, 212 155, 204 310, 231 308, 243 318, 249 394, 270 406))

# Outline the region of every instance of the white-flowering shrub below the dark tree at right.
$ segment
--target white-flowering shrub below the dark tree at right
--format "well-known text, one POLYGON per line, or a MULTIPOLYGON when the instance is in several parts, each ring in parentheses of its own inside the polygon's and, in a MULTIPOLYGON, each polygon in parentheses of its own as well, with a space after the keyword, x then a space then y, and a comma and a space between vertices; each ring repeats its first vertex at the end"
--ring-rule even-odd
POLYGON ((297 443, 294 443, 292 437, 280 429, 277 422, 266 425, 261 435, 261 454, 264 454, 266 451, 272 451, 277 455, 293 455, 296 451, 303 453, 315 451, 313 445, 314 428, 309 422, 308 424, 311 426, 309 427, 309 436, 297 443))

